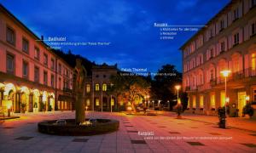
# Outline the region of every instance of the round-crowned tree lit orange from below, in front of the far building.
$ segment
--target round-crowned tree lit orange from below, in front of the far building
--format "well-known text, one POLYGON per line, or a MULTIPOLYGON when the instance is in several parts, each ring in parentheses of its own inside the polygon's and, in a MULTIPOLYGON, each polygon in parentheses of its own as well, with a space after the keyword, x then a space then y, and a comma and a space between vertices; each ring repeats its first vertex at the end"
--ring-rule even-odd
POLYGON ((110 78, 113 82, 113 92, 117 94, 119 101, 131 102, 131 108, 135 109, 135 102, 137 98, 143 98, 149 94, 150 83, 148 83, 143 77, 133 76, 130 73, 122 76, 117 74, 110 78))

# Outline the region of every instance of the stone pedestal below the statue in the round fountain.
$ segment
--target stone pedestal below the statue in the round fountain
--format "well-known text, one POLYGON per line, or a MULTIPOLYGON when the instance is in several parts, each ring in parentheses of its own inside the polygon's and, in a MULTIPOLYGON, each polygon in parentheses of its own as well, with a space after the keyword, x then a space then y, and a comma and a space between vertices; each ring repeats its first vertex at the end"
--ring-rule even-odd
POLYGON ((82 93, 77 93, 77 99, 75 102, 76 108, 76 123, 85 122, 85 114, 84 114, 84 96, 82 93))

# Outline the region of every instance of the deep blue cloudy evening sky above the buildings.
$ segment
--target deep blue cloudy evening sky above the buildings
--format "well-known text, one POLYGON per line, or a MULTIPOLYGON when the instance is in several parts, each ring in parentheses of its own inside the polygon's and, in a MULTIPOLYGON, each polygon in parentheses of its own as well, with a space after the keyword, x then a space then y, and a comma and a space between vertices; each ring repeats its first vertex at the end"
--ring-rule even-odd
POLYGON ((160 40, 154 22, 205 25, 230 0, 0 0, 38 37, 67 42, 111 42, 105 46, 66 46, 96 64, 147 68, 172 64, 182 70, 180 46, 195 32, 160 40))

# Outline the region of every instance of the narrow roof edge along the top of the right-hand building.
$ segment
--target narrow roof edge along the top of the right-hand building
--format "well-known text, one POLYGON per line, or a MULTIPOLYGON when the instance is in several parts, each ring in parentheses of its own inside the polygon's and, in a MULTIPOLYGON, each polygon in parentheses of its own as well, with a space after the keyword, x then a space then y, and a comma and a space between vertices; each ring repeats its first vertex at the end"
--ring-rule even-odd
POLYGON ((224 6, 224 8, 222 8, 218 14, 215 14, 211 20, 209 20, 206 24, 206 26, 202 27, 199 31, 197 31, 195 33, 195 35, 193 37, 190 37, 189 40, 185 43, 183 43, 183 45, 179 48, 180 50, 183 50, 190 42, 192 42, 195 37, 198 37, 202 32, 206 31, 207 26, 210 26, 212 24, 212 22, 214 22, 215 20, 218 20, 219 16, 221 16, 222 14, 224 14, 226 11, 230 10, 230 7, 238 2, 239 0, 231 0, 230 3, 228 3, 226 6, 224 6))

